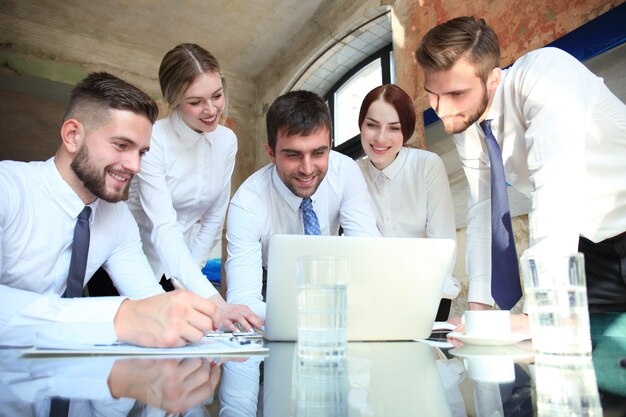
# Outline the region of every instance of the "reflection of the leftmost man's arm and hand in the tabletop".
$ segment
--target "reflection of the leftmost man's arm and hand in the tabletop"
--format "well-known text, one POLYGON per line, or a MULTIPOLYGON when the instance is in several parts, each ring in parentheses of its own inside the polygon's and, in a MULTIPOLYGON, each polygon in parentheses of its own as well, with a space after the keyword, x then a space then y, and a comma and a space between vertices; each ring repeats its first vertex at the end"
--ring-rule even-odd
POLYGON ((48 416, 53 398, 71 399, 70 416, 204 415, 194 408, 213 401, 223 360, 20 357, 0 350, 0 416, 48 416))

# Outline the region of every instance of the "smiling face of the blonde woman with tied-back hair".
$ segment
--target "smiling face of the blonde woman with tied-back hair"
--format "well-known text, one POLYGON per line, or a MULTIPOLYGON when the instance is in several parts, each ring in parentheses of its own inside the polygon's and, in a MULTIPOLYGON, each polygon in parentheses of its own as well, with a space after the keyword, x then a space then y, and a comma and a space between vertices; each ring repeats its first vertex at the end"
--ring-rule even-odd
POLYGON ((203 72, 185 90, 178 112, 196 132, 212 132, 217 129, 225 100, 222 77, 217 72, 203 72))

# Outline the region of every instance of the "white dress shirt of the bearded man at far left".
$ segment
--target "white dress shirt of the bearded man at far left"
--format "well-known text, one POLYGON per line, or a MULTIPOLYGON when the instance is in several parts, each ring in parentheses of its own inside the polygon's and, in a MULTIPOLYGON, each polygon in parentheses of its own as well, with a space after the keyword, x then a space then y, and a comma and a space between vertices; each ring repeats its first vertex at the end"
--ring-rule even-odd
MULTIPOLYGON (((54 163, 0 162, 0 344, 37 339, 82 343, 117 340, 113 319, 123 297, 62 299, 74 226, 85 204, 54 163)), ((126 205, 91 205, 86 281, 104 266, 132 298, 160 294, 126 205)))

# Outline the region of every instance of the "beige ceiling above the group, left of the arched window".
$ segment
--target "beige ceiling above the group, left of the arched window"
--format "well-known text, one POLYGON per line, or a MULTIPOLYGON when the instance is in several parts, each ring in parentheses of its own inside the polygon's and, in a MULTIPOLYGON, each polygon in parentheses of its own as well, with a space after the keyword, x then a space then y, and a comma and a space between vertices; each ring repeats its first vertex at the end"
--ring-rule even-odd
POLYGON ((358 3, 5 0, 0 73, 74 84, 89 71, 109 70, 159 95, 156 76, 165 52, 195 42, 220 60, 227 76, 257 80, 307 40, 324 31, 332 38, 329 19, 349 15, 358 3))

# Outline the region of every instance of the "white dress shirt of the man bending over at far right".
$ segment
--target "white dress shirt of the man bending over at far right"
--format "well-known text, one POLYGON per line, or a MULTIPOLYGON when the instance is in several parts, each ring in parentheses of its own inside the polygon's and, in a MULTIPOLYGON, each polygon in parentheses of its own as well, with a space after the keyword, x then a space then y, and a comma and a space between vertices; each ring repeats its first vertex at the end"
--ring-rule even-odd
MULTIPOLYGON (((571 55, 542 48, 504 70, 487 119, 507 181, 531 199, 528 254, 577 252, 626 230, 626 106, 571 55)), ((490 170, 478 124, 454 136, 469 182, 468 300, 491 297, 490 170)))

